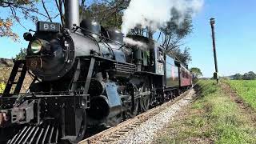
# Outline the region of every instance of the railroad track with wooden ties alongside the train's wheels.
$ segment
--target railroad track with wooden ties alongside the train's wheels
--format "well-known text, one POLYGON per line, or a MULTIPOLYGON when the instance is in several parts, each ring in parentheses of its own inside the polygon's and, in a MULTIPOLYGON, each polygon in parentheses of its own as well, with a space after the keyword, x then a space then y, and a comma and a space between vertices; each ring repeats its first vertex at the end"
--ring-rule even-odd
POLYGON ((186 94, 188 94, 190 90, 187 90, 185 93, 181 94, 179 97, 174 98, 173 101, 166 102, 161 106, 154 107, 146 111, 145 113, 139 114, 134 118, 130 118, 125 122, 118 124, 118 126, 114 126, 98 134, 94 134, 93 136, 86 138, 81 142, 78 142, 78 144, 98 144, 98 143, 114 142, 118 140, 118 138, 120 138, 123 134, 130 132, 130 130, 134 130, 134 128, 141 126, 142 123, 154 117, 154 115, 159 114, 162 110, 165 110, 166 107, 171 106, 174 103, 181 100, 182 98, 186 97, 186 94))

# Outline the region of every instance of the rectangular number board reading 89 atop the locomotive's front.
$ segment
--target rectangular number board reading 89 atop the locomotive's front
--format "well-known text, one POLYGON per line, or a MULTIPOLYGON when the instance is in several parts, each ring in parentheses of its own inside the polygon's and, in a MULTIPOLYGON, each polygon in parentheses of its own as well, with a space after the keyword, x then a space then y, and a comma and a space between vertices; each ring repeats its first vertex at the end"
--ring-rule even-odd
POLYGON ((61 25, 56 22, 38 22, 37 31, 49 31, 58 33, 61 29, 61 25))

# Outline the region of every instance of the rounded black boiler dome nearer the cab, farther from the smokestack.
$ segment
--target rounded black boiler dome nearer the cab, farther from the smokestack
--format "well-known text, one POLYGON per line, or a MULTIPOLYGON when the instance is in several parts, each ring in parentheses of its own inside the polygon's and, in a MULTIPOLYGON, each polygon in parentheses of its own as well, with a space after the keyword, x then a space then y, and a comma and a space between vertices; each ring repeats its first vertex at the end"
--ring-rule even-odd
POLYGON ((110 40, 120 44, 123 43, 123 34, 121 30, 118 30, 117 28, 110 28, 107 30, 107 34, 109 35, 110 40))

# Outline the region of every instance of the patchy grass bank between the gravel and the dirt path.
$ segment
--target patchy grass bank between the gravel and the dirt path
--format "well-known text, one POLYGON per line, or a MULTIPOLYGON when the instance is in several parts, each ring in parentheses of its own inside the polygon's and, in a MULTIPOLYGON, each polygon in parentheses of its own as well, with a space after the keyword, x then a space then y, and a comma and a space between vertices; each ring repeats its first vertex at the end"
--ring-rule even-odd
POLYGON ((198 98, 154 143, 256 143, 255 123, 213 81, 198 82, 198 98))

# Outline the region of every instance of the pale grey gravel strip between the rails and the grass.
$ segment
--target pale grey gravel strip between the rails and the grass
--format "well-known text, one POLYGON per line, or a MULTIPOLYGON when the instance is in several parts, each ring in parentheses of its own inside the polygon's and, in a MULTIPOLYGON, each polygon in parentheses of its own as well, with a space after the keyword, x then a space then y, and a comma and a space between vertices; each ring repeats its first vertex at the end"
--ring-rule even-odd
POLYGON ((178 111, 182 107, 187 106, 192 102, 194 96, 194 90, 190 92, 182 99, 173 105, 166 107, 165 110, 162 110, 159 114, 154 115, 154 117, 148 119, 146 122, 142 123, 141 126, 138 126, 134 130, 130 130, 128 133, 122 135, 118 138, 116 142, 118 144, 130 144, 130 143, 150 143, 153 141, 154 136, 158 133, 161 133, 161 130, 174 119, 175 114, 178 114, 178 111))

